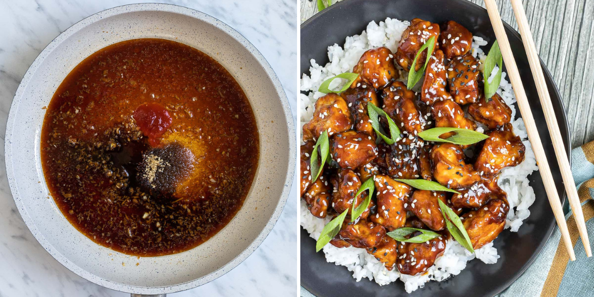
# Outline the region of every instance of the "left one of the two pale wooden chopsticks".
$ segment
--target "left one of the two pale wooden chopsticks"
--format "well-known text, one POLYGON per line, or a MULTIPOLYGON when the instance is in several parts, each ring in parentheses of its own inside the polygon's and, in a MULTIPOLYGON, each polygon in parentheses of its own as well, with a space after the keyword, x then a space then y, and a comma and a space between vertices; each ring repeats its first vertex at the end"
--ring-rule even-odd
MULTIPOLYGON (((489 13, 489 18, 491 19, 493 30, 495 31, 495 36, 497 37, 497 42, 499 43, 501 56, 503 56, 503 61, 505 62, 505 67, 507 68, 507 74, 510 77, 511 86, 514 89, 514 94, 516 94, 517 105, 520 109, 520 113, 522 113, 522 118, 524 119, 524 124, 526 125, 526 132, 528 134, 530 144, 532 144, 532 150, 534 151, 536 162, 538 162, 538 168, 539 172, 541 173, 542 182, 545 186, 546 195, 549 198, 549 203, 551 204, 553 214, 557 220, 559 230, 561 230, 561 237, 565 244, 565 248, 567 248, 569 258, 571 261, 574 261, 576 260, 576 254, 573 251, 573 245, 571 244, 571 238, 569 237, 569 231, 567 230, 567 223, 565 222, 563 207, 561 206, 561 201, 559 201, 557 189, 555 189, 555 181, 551 174, 551 168, 549 168, 548 160, 546 160, 545 150, 542 148, 541 137, 538 135, 538 129, 536 129, 536 123, 534 122, 534 117, 532 116, 532 110, 530 110, 530 105, 528 104, 528 99, 526 98, 526 92, 522 84, 522 78, 520 78, 520 72, 518 71, 516 61, 514 60, 513 53, 511 52, 510 42, 507 39, 507 35, 505 34, 505 29, 503 27, 503 22, 501 21, 497 4, 495 4, 495 0, 484 1, 486 10, 489 13)), ((571 182, 571 184, 573 185, 573 182, 571 182)))

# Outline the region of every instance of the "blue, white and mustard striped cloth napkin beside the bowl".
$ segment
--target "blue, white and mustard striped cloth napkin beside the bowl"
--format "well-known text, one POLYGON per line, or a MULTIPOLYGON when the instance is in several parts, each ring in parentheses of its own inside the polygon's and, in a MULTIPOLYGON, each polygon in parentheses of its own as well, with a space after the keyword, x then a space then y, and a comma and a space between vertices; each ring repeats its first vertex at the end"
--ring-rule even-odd
MULTIPOLYGON (((571 172, 578 187, 580 202, 590 242, 594 242, 594 141, 571 150, 571 172)), ((561 182, 561 181, 559 181, 561 182)), ((546 199, 546 197, 537 197, 546 199)), ((590 297, 594 296, 594 257, 587 258, 577 232, 576 220, 564 206, 567 227, 576 252, 576 261, 569 255, 555 227, 541 254, 519 279, 499 297, 590 297)), ((592 247, 594 248, 594 246, 592 247)), ((301 287, 302 297, 314 297, 301 287)))

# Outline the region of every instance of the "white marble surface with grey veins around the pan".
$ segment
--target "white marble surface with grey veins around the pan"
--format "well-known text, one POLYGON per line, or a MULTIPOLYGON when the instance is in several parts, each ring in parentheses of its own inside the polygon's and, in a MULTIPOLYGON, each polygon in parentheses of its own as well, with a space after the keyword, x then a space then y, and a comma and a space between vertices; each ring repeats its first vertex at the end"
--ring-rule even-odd
MULTIPOLYGON (((162 1, 150 1, 162 2, 162 1)), ((165 1, 194 8, 239 31, 271 64, 285 88, 297 126, 296 0, 165 1)), ((129 296, 97 286, 54 260, 33 238, 8 188, 4 134, 12 97, 36 56, 77 21, 134 3, 125 0, 0 0, 0 296, 129 296)), ((244 263, 207 285, 169 296, 296 296, 298 185, 263 244, 244 263)))

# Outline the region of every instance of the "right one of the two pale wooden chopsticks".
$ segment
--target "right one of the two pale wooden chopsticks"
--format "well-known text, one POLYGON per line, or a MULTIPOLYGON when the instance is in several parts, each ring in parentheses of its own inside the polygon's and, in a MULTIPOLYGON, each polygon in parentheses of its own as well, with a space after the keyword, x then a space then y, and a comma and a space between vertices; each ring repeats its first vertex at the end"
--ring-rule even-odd
POLYGON ((561 176, 563 176, 563 184, 565 185, 565 191, 569 198, 569 205, 571 206, 573 216, 576 219, 577 230, 582 237, 587 257, 592 257, 592 250, 590 249, 590 240, 588 239, 582 206, 580 205, 580 199, 577 196, 577 189, 573 181, 573 175, 571 175, 571 167, 566 157, 567 151, 565 151, 563 139, 561 139, 561 132, 559 131, 557 119, 555 118, 555 110, 553 110, 553 106, 551 105, 551 97, 549 96, 549 90, 546 87, 545 76, 542 74, 541 61, 538 58, 538 53, 536 53, 536 46, 534 45, 532 32, 530 32, 526 12, 524 11, 522 2, 519 0, 511 0, 511 7, 514 10, 514 15, 516 15, 520 34, 522 34, 522 42, 526 49, 528 62, 530 62, 530 69, 532 70, 532 75, 536 83, 536 90, 538 90, 538 96, 541 99, 542 110, 545 113, 546 126, 549 128, 549 134, 551 134, 551 140, 553 147, 555 148, 555 156, 557 156, 557 162, 561 169, 561 176))

